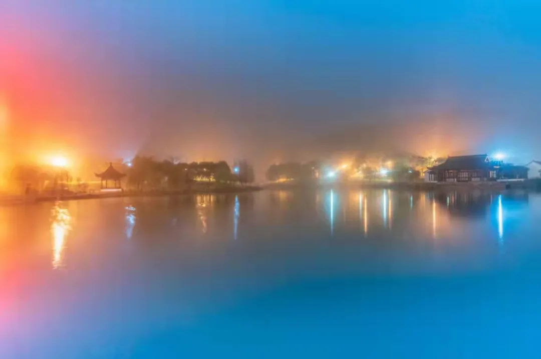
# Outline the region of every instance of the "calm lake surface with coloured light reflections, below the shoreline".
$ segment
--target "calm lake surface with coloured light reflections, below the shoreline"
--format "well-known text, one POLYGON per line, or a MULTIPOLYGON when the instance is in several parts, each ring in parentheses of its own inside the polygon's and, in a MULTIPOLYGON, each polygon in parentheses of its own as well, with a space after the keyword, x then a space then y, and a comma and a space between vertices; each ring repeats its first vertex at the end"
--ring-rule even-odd
POLYGON ((1 358, 539 357, 541 195, 0 208, 1 358))

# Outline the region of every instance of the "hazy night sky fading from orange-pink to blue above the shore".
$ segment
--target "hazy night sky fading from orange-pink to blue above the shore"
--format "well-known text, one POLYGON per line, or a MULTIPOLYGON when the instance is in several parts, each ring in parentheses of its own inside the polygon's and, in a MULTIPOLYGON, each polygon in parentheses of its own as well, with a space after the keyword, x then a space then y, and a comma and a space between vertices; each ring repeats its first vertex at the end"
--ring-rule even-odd
POLYGON ((10 147, 541 159, 536 3, 0 0, 10 147))

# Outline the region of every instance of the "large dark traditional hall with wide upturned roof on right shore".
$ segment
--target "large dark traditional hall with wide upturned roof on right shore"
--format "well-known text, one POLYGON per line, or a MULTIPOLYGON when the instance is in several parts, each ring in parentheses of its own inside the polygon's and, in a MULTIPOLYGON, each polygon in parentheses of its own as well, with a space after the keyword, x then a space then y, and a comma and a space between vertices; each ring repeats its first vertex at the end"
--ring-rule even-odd
POLYGON ((453 156, 431 167, 425 178, 434 182, 495 181, 499 165, 501 162, 491 161, 486 154, 453 156))

